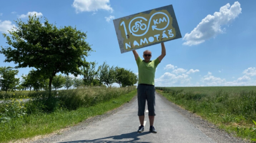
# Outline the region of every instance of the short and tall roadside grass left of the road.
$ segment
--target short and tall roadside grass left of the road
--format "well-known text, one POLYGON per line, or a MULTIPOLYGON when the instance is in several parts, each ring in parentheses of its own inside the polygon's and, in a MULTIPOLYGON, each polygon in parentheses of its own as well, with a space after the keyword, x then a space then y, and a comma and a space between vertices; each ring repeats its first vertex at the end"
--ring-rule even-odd
POLYGON ((15 142, 76 125, 87 118, 120 107, 129 102, 136 93, 135 87, 82 88, 59 91, 59 98, 48 102, 43 96, 39 96, 24 105, 25 115, 2 120, 5 122, 0 123, 0 142, 15 142), (75 105, 75 100, 79 106, 73 108, 67 105, 75 105))

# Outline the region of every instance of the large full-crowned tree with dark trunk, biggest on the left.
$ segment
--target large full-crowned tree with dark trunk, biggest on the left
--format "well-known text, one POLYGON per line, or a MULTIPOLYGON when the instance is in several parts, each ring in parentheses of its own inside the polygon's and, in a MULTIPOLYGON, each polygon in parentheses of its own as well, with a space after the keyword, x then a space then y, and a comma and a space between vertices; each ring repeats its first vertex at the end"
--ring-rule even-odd
POLYGON ((53 77, 61 72, 77 76, 80 67, 88 66, 86 57, 92 51, 85 41, 86 33, 71 26, 57 28, 45 18, 29 16, 27 22, 15 21, 17 28, 9 31, 11 36, 3 34, 12 47, 1 46, 0 53, 6 57, 4 62, 18 64, 16 68, 34 67, 40 75, 49 79, 49 97, 51 97, 53 77))

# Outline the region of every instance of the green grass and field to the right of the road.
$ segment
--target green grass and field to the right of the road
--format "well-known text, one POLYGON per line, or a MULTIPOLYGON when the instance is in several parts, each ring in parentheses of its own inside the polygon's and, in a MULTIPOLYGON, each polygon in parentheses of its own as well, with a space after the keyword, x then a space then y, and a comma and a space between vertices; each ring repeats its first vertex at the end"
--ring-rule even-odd
POLYGON ((256 138, 256 86, 156 87, 166 99, 218 125, 228 133, 256 138))

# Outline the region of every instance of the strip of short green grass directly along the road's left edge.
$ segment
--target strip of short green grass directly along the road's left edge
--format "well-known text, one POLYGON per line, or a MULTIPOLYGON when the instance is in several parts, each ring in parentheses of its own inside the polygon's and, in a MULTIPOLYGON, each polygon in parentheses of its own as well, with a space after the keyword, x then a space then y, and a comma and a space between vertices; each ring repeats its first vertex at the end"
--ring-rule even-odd
POLYGON ((134 90, 120 95, 107 102, 101 102, 90 107, 79 107, 77 110, 58 110, 52 113, 38 113, 22 118, 15 118, 7 123, 0 124, 0 142, 15 141, 22 138, 31 138, 44 135, 59 129, 76 125, 77 123, 96 115, 120 107, 129 102, 137 94, 134 90))

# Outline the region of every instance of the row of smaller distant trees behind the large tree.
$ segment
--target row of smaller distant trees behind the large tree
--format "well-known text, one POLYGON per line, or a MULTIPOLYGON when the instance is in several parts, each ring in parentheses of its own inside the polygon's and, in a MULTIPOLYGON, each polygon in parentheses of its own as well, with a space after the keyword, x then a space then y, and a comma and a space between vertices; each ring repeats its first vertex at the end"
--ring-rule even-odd
MULTIPOLYGON (((113 83, 119 84, 121 87, 134 85, 137 83, 137 75, 130 70, 120 67, 110 67, 106 62, 95 69, 95 63, 80 69, 83 75, 82 79, 71 78, 70 76, 63 76, 62 74, 55 75, 52 80, 52 88, 57 90, 65 87, 67 90, 71 87, 78 88, 81 85, 100 86, 102 84, 111 87, 113 83)), ((34 69, 27 75, 15 78, 18 70, 11 67, 0 67, 0 88, 1 91, 18 90, 49 90, 49 79, 44 76, 38 76, 34 69)))

